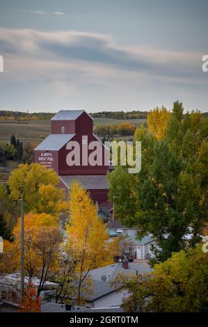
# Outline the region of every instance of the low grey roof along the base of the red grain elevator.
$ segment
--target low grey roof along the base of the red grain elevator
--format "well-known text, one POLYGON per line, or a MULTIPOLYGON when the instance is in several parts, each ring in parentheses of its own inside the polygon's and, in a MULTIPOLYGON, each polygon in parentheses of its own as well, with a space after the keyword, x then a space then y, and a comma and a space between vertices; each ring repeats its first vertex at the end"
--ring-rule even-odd
POLYGON ((69 188, 72 180, 79 180, 83 187, 92 189, 109 189, 106 175, 59 175, 60 180, 69 188))

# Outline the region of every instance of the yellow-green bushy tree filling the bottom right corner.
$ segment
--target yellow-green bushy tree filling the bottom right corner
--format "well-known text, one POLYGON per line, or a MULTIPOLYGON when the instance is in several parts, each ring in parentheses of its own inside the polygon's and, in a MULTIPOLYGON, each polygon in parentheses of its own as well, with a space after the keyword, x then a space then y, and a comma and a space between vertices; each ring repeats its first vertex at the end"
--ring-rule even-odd
POLYGON ((116 276, 116 289, 130 294, 123 300, 125 312, 207 312, 208 256, 202 244, 180 250, 152 273, 116 276))

